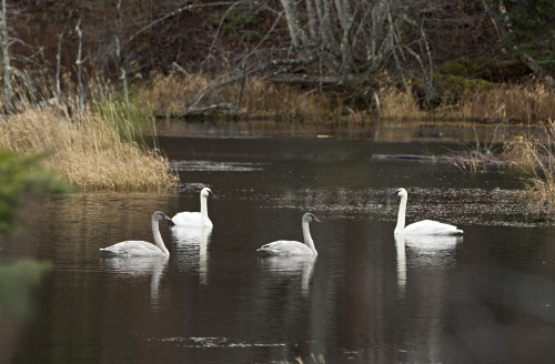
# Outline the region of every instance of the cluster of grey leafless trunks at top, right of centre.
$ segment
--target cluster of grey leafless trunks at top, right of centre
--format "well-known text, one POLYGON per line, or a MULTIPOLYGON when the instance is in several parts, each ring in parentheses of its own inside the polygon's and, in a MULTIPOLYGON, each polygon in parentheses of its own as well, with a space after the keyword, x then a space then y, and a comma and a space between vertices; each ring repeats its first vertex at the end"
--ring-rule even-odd
POLYGON ((322 73, 337 77, 340 84, 372 82, 387 70, 405 83, 407 62, 430 74, 426 34, 411 1, 304 0, 302 12, 295 0, 280 1, 293 47, 303 57, 316 57, 322 73))

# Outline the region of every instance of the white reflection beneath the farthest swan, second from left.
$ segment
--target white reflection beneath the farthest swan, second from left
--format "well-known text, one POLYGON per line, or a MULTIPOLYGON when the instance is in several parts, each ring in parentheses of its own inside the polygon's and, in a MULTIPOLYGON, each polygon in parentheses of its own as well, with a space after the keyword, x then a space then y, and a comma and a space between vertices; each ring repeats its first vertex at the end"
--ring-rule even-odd
POLYGON ((208 283, 208 246, 212 228, 171 226, 173 241, 179 254, 179 264, 186 270, 199 272, 201 284, 208 283))

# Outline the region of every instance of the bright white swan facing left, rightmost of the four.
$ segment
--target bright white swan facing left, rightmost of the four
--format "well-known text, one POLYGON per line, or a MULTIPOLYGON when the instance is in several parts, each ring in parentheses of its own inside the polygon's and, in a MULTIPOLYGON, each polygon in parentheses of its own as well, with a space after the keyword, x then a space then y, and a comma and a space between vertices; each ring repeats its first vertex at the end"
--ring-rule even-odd
POLYGON ((405 212, 407 193, 405 189, 398 189, 391 194, 401 198, 398 205, 397 225, 395 226, 395 234, 413 234, 413 235, 457 235, 463 231, 456 229, 454 225, 444 224, 442 222, 423 220, 405 226, 405 212))

